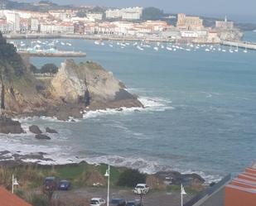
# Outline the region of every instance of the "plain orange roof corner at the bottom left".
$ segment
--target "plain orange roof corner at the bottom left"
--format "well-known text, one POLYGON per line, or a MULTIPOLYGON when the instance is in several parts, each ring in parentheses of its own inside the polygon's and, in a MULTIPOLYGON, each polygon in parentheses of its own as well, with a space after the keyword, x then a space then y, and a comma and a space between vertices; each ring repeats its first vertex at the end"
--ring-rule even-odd
POLYGON ((7 189, 0 187, 0 205, 1 206, 31 206, 23 199, 20 199, 15 194, 10 193, 7 189))

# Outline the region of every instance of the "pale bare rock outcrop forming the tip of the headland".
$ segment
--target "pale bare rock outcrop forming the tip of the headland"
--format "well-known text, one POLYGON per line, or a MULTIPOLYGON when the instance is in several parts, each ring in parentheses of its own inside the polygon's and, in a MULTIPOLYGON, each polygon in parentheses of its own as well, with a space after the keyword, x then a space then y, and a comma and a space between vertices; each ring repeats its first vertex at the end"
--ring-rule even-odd
POLYGON ((90 109, 142 107, 111 72, 93 62, 66 60, 51 80, 51 97, 67 104, 83 103, 90 109))

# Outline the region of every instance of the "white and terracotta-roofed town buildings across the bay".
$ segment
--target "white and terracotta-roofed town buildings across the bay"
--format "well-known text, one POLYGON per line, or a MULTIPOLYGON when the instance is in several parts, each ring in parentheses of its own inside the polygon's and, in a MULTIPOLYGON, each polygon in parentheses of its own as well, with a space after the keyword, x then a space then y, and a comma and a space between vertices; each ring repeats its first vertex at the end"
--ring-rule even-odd
MULTIPOLYGON (((43 7, 47 3, 50 2, 39 2, 36 6, 43 7)), ((146 10, 147 8, 142 7, 121 9, 78 7, 31 12, 7 10, 2 6, 0 31, 11 37, 59 34, 95 39, 175 41, 198 44, 240 41, 243 37, 243 32, 234 26, 234 22, 229 22, 227 17, 207 27, 204 26, 204 20, 200 17, 186 16, 184 13, 165 17, 165 19, 145 20, 142 16, 146 10)))

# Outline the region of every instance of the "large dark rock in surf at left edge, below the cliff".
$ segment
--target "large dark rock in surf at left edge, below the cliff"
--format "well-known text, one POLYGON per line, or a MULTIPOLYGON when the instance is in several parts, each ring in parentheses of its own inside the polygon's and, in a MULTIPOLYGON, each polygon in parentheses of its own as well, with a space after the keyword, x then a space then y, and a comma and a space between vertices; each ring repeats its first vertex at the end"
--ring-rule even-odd
POLYGON ((21 123, 13 121, 11 118, 0 117, 0 133, 21 134, 24 133, 21 123))

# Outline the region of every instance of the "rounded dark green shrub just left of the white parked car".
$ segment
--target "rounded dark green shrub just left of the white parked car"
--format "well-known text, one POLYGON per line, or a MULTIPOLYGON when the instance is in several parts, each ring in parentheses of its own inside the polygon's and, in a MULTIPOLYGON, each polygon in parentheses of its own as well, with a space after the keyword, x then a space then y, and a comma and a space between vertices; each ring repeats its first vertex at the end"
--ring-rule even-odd
POLYGON ((140 173, 138 170, 125 170, 119 176, 118 186, 135 187, 138 183, 145 183, 146 175, 140 173))

